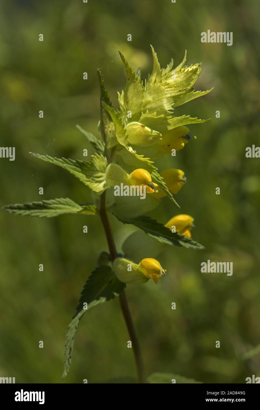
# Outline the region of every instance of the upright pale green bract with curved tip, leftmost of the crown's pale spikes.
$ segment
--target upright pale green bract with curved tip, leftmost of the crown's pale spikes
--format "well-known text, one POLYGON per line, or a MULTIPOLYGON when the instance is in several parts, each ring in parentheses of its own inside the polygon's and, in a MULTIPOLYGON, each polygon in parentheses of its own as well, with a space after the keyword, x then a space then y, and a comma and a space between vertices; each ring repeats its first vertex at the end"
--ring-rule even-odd
POLYGON ((140 117, 144 87, 140 77, 132 70, 120 51, 119 54, 127 72, 127 84, 124 91, 124 115, 127 111, 131 111, 131 121, 135 121, 140 117))

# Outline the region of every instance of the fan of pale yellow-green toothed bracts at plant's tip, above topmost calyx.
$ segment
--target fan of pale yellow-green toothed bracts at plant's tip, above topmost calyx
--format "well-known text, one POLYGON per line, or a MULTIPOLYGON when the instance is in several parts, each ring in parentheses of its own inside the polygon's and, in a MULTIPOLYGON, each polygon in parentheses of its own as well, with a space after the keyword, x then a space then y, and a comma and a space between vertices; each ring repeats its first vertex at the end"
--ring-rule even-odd
POLYGON ((178 67, 172 69, 172 60, 167 68, 161 68, 152 46, 151 50, 154 66, 151 75, 145 81, 145 86, 120 53, 127 71, 126 88, 119 94, 119 115, 124 124, 134 121, 152 130, 164 132, 181 125, 208 121, 186 115, 175 117, 172 114, 175 107, 211 91, 194 92, 192 88, 201 72, 201 63, 185 66, 185 52, 184 59, 178 67))

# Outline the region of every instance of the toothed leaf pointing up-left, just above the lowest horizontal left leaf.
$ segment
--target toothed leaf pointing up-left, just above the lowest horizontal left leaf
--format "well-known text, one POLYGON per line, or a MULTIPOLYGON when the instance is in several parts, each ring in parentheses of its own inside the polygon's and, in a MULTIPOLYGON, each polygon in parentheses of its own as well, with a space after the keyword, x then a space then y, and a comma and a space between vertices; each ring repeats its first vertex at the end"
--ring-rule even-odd
POLYGON ((33 157, 50 162, 50 164, 61 166, 61 168, 66 169, 66 171, 83 182, 84 185, 92 189, 92 191, 102 193, 106 189, 107 160, 103 155, 95 153, 91 156, 91 161, 81 161, 79 159, 50 157, 50 155, 30 154, 33 157))

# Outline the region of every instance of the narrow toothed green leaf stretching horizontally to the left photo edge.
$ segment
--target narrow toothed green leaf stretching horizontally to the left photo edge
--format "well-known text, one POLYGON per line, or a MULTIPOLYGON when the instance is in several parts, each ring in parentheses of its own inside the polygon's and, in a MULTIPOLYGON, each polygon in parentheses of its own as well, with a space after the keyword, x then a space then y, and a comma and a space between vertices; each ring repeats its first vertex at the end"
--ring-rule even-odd
POLYGON ((95 205, 78 205, 70 198, 56 198, 6 205, 2 207, 2 210, 9 212, 9 214, 38 216, 40 218, 51 218, 52 216, 62 214, 97 214, 97 207, 95 207, 95 205))

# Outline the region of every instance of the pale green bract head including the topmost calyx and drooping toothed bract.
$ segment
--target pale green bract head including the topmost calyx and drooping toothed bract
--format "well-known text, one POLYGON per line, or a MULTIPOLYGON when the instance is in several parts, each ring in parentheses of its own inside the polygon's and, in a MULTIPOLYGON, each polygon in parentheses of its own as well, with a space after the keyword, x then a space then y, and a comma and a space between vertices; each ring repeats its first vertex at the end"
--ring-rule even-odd
POLYGON ((154 159, 166 155, 165 149, 160 145, 163 132, 208 121, 185 114, 176 117, 173 115, 174 107, 203 96, 211 90, 194 92, 192 87, 201 72, 201 63, 186 66, 186 52, 181 64, 173 69, 173 61, 166 68, 161 68, 152 46, 151 50, 154 66, 145 85, 140 80, 140 75, 132 70, 120 53, 127 73, 125 90, 118 93, 120 110, 115 110, 106 97, 103 80, 101 89, 105 98, 101 103, 113 122, 113 125, 110 125, 110 128, 113 128, 113 161, 129 172, 142 168, 153 173, 154 182, 179 206, 154 166, 154 159))

